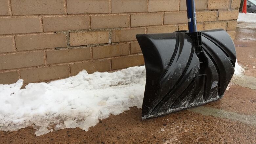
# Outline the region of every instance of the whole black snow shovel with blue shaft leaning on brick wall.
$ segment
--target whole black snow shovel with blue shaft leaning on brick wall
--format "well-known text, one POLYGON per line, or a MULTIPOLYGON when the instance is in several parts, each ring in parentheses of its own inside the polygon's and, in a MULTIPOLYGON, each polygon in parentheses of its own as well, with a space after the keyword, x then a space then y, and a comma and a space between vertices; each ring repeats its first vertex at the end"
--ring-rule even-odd
POLYGON ((189 31, 136 35, 146 67, 142 119, 219 100, 234 74, 229 34, 197 31, 194 0, 186 3, 189 31))

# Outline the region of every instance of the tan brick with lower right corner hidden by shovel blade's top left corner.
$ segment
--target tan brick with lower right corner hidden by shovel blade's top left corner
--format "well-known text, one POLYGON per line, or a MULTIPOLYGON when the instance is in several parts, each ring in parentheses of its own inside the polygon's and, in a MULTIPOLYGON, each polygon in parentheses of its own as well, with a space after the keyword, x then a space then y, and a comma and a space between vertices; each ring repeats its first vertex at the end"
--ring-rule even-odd
POLYGON ((111 42, 124 42, 136 40, 136 34, 145 33, 145 28, 112 31, 111 42))

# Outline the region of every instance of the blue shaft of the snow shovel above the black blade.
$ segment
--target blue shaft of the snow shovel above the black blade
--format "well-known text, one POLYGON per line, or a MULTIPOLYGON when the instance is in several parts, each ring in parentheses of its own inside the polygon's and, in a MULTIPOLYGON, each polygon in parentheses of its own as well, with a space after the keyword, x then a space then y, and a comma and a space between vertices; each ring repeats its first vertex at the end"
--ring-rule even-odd
POLYGON ((194 0, 186 0, 187 3, 187 19, 188 19, 188 31, 197 31, 196 9, 194 0))

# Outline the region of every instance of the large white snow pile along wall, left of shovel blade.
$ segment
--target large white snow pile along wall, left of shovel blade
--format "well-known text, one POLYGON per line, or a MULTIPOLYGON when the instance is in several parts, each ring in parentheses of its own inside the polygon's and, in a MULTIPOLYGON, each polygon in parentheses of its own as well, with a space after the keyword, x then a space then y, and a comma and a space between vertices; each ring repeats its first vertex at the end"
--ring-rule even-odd
POLYGON ((0 130, 14 131, 32 126, 36 136, 64 128, 85 131, 99 119, 141 108, 145 89, 145 66, 117 72, 82 71, 51 83, 23 80, 0 85, 0 130))

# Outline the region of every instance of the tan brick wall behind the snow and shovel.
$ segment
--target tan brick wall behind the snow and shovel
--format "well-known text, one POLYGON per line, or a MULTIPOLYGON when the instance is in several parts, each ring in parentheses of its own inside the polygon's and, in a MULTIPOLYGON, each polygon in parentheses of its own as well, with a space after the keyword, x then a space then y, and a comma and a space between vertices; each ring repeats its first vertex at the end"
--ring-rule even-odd
MULTIPOLYGON (((0 84, 142 65, 135 35, 187 30, 185 0, 0 0, 0 84)), ((240 0, 196 0, 199 30, 235 37, 240 0)))

